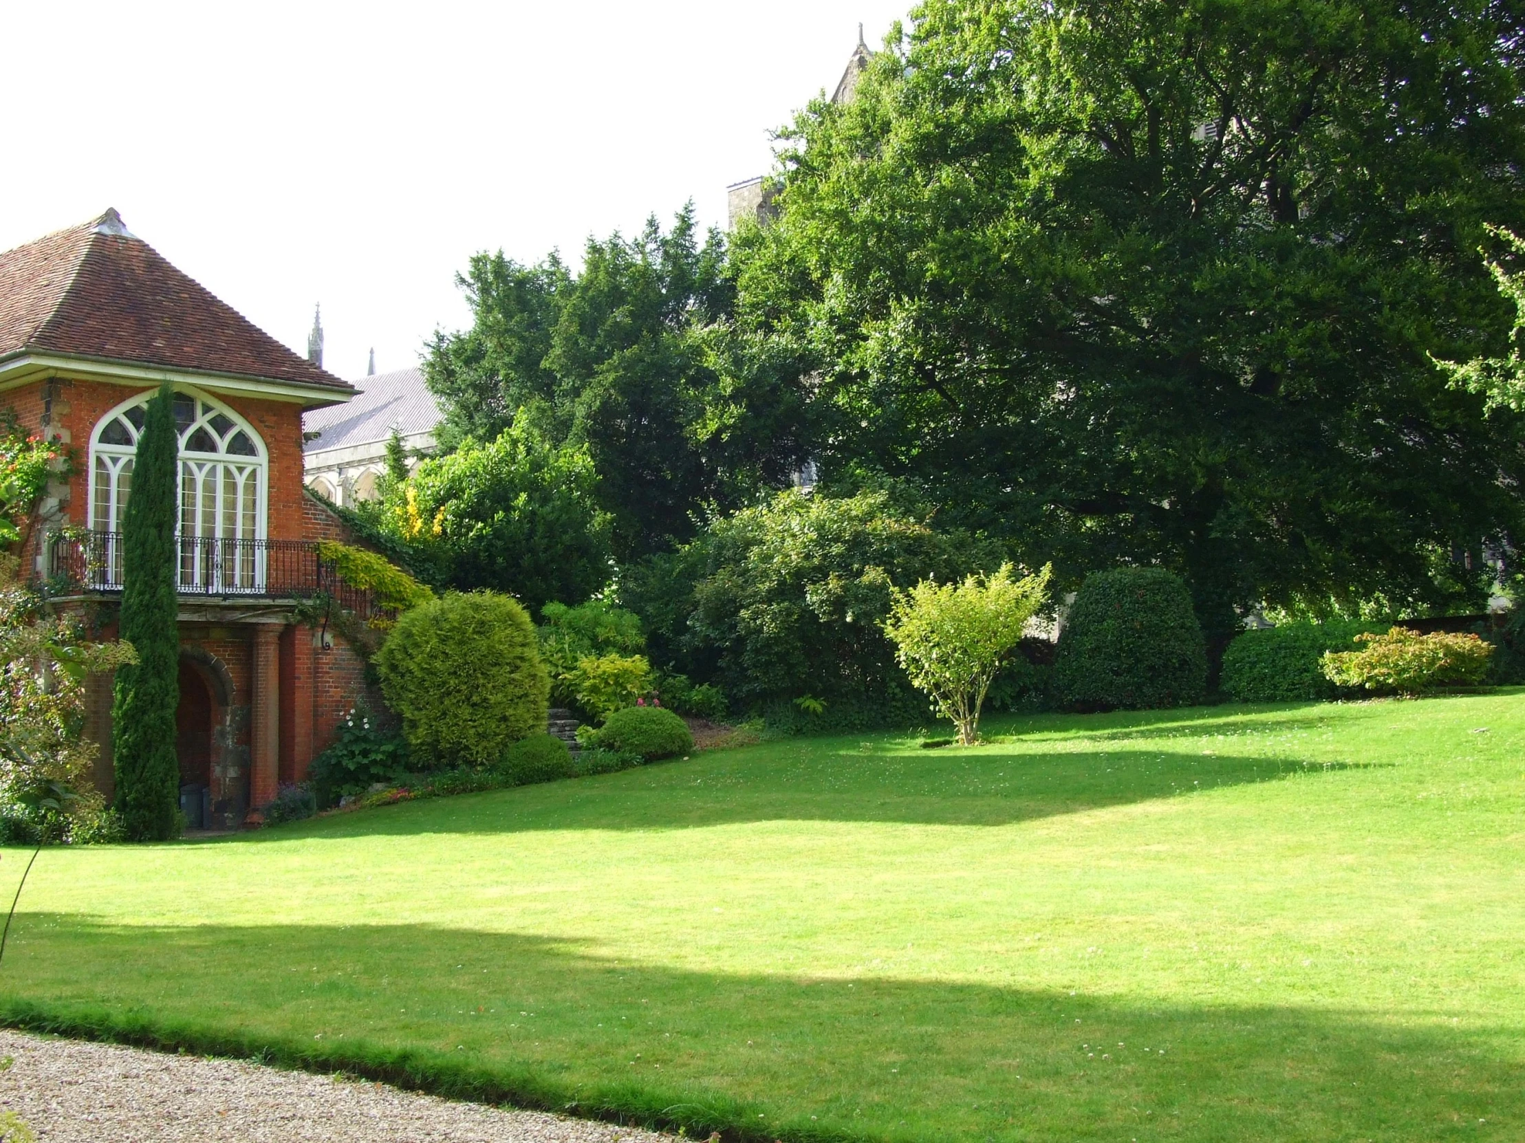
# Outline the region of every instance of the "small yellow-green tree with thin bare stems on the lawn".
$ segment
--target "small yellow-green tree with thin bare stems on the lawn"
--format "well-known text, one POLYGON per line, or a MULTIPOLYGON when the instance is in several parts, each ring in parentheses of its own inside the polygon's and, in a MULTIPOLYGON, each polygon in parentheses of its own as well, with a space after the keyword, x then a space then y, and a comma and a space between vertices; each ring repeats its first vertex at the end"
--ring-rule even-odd
POLYGON ((979 738, 990 681, 1043 607, 1048 581, 1048 567, 1013 579, 1011 564, 1002 564, 993 576, 968 576, 962 584, 924 579, 895 591, 884 634, 910 684, 953 719, 959 745, 979 738))

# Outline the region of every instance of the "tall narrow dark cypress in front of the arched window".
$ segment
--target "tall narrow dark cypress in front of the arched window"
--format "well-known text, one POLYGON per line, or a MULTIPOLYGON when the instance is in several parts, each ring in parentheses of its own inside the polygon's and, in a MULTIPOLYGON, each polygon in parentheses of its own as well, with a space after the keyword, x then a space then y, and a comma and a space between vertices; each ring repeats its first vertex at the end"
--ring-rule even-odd
POLYGON ((122 639, 137 649, 137 663, 116 672, 111 727, 116 808, 133 841, 162 841, 180 832, 178 453, 174 390, 166 383, 148 402, 133 463, 133 494, 122 521, 122 639))

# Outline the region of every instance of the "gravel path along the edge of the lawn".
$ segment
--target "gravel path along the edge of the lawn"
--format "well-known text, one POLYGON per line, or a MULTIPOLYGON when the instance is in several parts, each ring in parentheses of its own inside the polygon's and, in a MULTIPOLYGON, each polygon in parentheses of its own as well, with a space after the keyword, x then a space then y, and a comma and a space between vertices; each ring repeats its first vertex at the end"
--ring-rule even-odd
POLYGON ((3 1056, 14 1062, 0 1071, 0 1108, 20 1114, 38 1143, 671 1143, 383 1084, 0 1029, 3 1056))

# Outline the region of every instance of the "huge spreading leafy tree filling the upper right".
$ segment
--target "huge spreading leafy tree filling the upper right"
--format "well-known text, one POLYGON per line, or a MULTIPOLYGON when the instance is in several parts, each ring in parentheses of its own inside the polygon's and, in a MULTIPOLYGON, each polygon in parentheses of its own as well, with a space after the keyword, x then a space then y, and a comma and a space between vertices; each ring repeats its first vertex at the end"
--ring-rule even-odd
POLYGON ((1514 5, 929 0, 804 113, 744 328, 819 370, 828 477, 1257 602, 1472 602, 1519 536, 1476 247, 1525 213, 1514 5))

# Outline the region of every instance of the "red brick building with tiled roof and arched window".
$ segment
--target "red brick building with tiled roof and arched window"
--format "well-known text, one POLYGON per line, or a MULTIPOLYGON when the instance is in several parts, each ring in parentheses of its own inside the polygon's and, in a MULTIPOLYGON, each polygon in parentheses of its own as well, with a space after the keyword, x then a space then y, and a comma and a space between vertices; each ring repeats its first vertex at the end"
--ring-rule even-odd
MULTIPOLYGON (((181 805, 192 824, 258 820, 363 689, 342 640, 297 619, 325 584, 314 541, 342 524, 303 489, 302 413, 354 389, 131 235, 114 210, 0 255, 0 408, 69 447, 23 558, 66 576, 110 634, 143 405, 168 379, 180 427, 181 805), (85 529, 61 538, 66 526, 85 529), (76 533, 78 535, 78 533, 76 533)), ((111 686, 88 692, 110 797, 111 686)))

